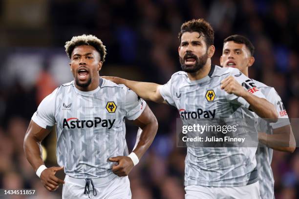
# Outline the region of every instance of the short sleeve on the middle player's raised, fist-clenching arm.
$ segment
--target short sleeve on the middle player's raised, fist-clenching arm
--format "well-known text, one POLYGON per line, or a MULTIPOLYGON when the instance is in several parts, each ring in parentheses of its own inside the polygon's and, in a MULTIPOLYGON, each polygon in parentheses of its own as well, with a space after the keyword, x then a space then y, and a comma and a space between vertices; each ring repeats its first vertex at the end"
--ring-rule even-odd
MULTIPOLYGON (((247 76, 242 74, 239 70, 235 69, 232 71, 231 75, 239 82, 244 89, 246 89, 249 93, 259 97, 266 99, 265 96, 262 94, 262 92, 256 87, 255 83, 253 80, 249 79, 247 76)), ((234 94, 228 94, 226 93, 226 99, 231 101, 232 103, 242 105, 246 107, 247 109, 249 108, 250 104, 241 97, 237 97, 234 94)))

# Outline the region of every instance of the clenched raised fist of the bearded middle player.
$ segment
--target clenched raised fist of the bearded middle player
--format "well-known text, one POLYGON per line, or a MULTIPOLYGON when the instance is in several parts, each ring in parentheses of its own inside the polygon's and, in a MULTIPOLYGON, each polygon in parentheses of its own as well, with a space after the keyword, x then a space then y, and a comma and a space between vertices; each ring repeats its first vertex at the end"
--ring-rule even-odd
POLYGON ((229 76, 221 81, 221 89, 224 89, 228 94, 235 94, 238 97, 243 97, 247 94, 244 87, 235 80, 233 76, 229 76))

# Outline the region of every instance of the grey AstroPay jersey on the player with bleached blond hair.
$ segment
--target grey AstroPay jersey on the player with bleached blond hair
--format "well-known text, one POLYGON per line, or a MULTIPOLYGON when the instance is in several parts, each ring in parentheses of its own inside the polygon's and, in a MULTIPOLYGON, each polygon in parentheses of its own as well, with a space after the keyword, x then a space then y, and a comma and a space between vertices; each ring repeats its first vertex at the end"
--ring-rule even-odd
POLYGON ((56 124, 57 161, 74 178, 114 178, 108 158, 127 156, 125 118, 137 119, 146 102, 124 85, 100 79, 97 89, 63 84, 47 96, 32 120, 43 128, 56 124))

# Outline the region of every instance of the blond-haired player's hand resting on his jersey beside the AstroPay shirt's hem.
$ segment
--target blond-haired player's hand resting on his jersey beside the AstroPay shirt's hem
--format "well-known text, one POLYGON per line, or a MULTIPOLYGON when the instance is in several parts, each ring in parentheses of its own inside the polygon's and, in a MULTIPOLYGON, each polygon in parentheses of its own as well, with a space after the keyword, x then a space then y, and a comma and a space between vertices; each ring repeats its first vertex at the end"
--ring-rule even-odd
POLYGON ((109 161, 118 162, 118 164, 113 164, 112 172, 119 177, 128 176, 134 167, 132 159, 127 156, 109 158, 109 161))

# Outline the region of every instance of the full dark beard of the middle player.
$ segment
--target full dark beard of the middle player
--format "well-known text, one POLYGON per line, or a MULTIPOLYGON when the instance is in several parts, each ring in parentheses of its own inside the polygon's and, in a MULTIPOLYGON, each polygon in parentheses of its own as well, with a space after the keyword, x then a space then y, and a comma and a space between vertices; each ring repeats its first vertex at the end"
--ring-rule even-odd
POLYGON ((186 53, 184 58, 180 57, 180 63, 181 63, 182 70, 186 73, 195 73, 195 72, 199 71, 207 63, 207 60, 208 60, 208 51, 204 55, 202 55, 201 57, 197 57, 193 53, 189 53, 189 52, 186 53), (187 66, 185 64, 185 60, 186 60, 187 57, 194 58, 195 59, 195 64, 187 66))

